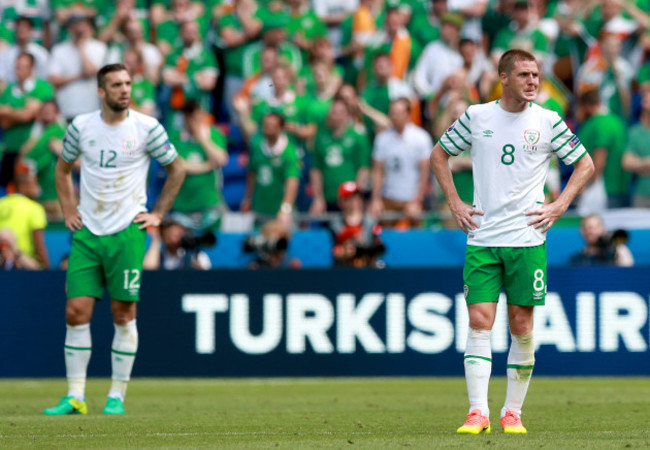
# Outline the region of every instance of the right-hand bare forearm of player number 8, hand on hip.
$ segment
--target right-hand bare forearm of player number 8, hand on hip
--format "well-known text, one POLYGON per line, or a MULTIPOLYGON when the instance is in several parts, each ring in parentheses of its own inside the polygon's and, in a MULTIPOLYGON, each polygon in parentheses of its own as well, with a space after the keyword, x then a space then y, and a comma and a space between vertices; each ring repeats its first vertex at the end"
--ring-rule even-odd
POLYGON ((528 222, 528 225, 533 225, 535 228, 543 227, 542 231, 547 231, 551 228, 569 208, 573 199, 585 187, 593 174, 594 162, 591 156, 589 156, 589 153, 585 152, 585 155, 573 164, 573 173, 557 200, 526 213, 527 216, 536 216, 528 222))

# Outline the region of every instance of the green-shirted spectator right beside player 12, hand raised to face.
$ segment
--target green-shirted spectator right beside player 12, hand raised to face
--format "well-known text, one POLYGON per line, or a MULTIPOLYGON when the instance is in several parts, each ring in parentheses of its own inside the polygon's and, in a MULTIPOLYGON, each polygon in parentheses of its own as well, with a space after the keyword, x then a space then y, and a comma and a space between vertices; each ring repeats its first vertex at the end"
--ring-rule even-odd
POLYGON ((182 128, 171 128, 169 139, 185 160, 186 177, 172 207, 172 217, 196 232, 214 230, 224 205, 221 168, 228 163, 226 137, 208 124, 195 101, 183 106, 182 128))

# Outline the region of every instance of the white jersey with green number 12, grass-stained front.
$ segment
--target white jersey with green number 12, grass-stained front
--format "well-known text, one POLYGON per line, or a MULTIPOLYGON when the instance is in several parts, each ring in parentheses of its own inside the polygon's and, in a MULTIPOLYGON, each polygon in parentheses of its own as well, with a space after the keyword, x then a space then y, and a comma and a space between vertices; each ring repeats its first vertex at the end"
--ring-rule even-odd
POLYGON ((129 110, 118 125, 104 122, 101 111, 75 117, 61 156, 67 162, 81 157, 79 212, 93 234, 104 236, 146 211, 150 158, 167 165, 177 153, 155 118, 129 110))

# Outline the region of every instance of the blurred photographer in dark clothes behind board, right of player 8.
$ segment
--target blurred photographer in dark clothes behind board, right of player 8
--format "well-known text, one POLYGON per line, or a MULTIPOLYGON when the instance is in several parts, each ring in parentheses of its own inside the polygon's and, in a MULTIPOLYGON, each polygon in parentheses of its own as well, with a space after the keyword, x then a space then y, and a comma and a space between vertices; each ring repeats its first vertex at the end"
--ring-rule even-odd
POLYGON ((616 230, 608 233, 599 216, 591 215, 582 219, 580 234, 585 246, 573 255, 569 264, 573 266, 614 265, 631 267, 634 257, 627 247, 627 232, 616 230))

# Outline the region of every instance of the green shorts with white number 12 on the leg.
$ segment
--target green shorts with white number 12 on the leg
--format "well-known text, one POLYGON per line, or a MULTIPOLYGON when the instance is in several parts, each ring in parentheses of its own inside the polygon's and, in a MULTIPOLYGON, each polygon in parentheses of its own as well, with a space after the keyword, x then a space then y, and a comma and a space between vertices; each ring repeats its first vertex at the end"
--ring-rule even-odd
POLYGON ((138 301, 146 231, 132 223, 115 234, 97 236, 83 227, 72 238, 66 286, 68 298, 138 301))

